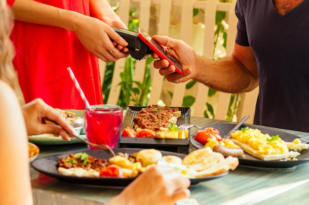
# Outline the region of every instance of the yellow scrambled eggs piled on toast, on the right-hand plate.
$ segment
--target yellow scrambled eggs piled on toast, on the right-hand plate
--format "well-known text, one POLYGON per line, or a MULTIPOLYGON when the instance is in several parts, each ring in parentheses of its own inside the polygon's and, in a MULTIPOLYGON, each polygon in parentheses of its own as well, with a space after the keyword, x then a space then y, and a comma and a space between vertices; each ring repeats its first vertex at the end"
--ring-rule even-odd
POLYGON ((260 154, 283 154, 289 153, 289 149, 281 138, 271 140, 269 134, 263 134, 258 129, 249 128, 246 131, 236 130, 231 134, 231 138, 250 145, 260 154))

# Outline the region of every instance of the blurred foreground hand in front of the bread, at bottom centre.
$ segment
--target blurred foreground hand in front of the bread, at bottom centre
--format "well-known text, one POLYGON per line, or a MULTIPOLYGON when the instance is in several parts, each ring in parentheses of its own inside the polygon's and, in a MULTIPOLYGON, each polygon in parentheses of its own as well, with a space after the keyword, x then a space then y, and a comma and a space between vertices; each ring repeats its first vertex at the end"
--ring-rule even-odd
POLYGON ((106 205, 173 205, 190 196, 190 179, 170 167, 154 166, 106 205))

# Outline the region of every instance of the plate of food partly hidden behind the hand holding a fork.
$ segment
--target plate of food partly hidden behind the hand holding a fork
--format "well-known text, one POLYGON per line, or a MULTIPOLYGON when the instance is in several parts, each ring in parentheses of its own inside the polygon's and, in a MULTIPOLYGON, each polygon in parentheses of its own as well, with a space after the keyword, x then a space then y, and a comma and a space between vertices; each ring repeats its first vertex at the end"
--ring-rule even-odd
MULTIPOLYGON (((83 129, 82 124, 74 123, 77 119, 81 120, 82 118, 80 116, 83 115, 83 111, 79 110, 61 110, 61 109, 55 109, 59 114, 64 117, 66 120, 68 120, 69 123, 72 124, 72 126, 75 128, 77 135, 79 135, 81 138, 86 140, 85 134, 80 134, 81 130, 83 129)), ((49 123, 46 121, 46 123, 49 123)), ((46 133, 41 135, 31 135, 28 136, 28 141, 31 143, 34 143, 36 145, 66 145, 66 144, 75 144, 75 143, 81 143, 76 138, 71 138, 70 141, 63 140, 61 137, 55 137, 52 134, 46 133)))

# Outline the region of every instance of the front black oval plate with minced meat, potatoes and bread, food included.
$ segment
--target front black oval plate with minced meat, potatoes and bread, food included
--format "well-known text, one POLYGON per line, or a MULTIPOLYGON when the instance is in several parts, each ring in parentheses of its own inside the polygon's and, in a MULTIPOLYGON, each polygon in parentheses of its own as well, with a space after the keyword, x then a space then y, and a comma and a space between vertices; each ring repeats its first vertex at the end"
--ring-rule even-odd
POLYGON ((114 151, 116 156, 102 149, 57 154, 36 159, 31 165, 40 173, 62 181, 101 186, 126 186, 150 166, 159 165, 162 159, 166 162, 164 166, 189 177, 192 185, 226 176, 238 166, 236 157, 225 158, 209 147, 188 155, 153 148, 114 148, 114 151))

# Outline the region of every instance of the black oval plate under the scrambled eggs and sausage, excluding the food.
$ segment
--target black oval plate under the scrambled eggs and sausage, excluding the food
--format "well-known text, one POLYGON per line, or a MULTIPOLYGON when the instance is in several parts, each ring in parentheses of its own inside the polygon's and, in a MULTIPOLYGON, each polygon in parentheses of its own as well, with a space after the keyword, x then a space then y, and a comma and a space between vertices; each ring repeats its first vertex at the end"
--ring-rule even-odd
MULTIPOLYGON (((235 126, 234 123, 223 123, 223 124, 214 124, 207 127, 214 127, 220 131, 220 134, 222 137, 224 137, 226 134, 232 130, 232 128, 235 126)), ((253 125, 253 124, 243 124, 240 126, 239 129, 242 127, 249 127, 252 129, 259 129, 264 134, 269 134, 270 136, 273 135, 279 135, 279 137, 284 140, 285 142, 292 142, 295 138, 299 138, 296 135, 278 130, 276 128, 271 127, 265 127, 260 125, 253 125)), ((205 129, 206 127, 203 127, 202 129, 205 129)), ((190 136, 190 142, 191 144, 196 148, 203 148, 203 144, 197 142, 194 140, 194 137, 196 135, 196 132, 190 136)), ((274 169, 286 169, 286 168, 292 168, 296 165, 305 163, 309 161, 309 152, 308 150, 304 150, 300 152, 301 154, 297 157, 297 161, 263 161, 261 159, 258 159, 250 154, 245 153, 245 157, 239 157, 239 165, 244 166, 250 166, 250 167, 262 167, 262 168, 274 168, 274 169)))

